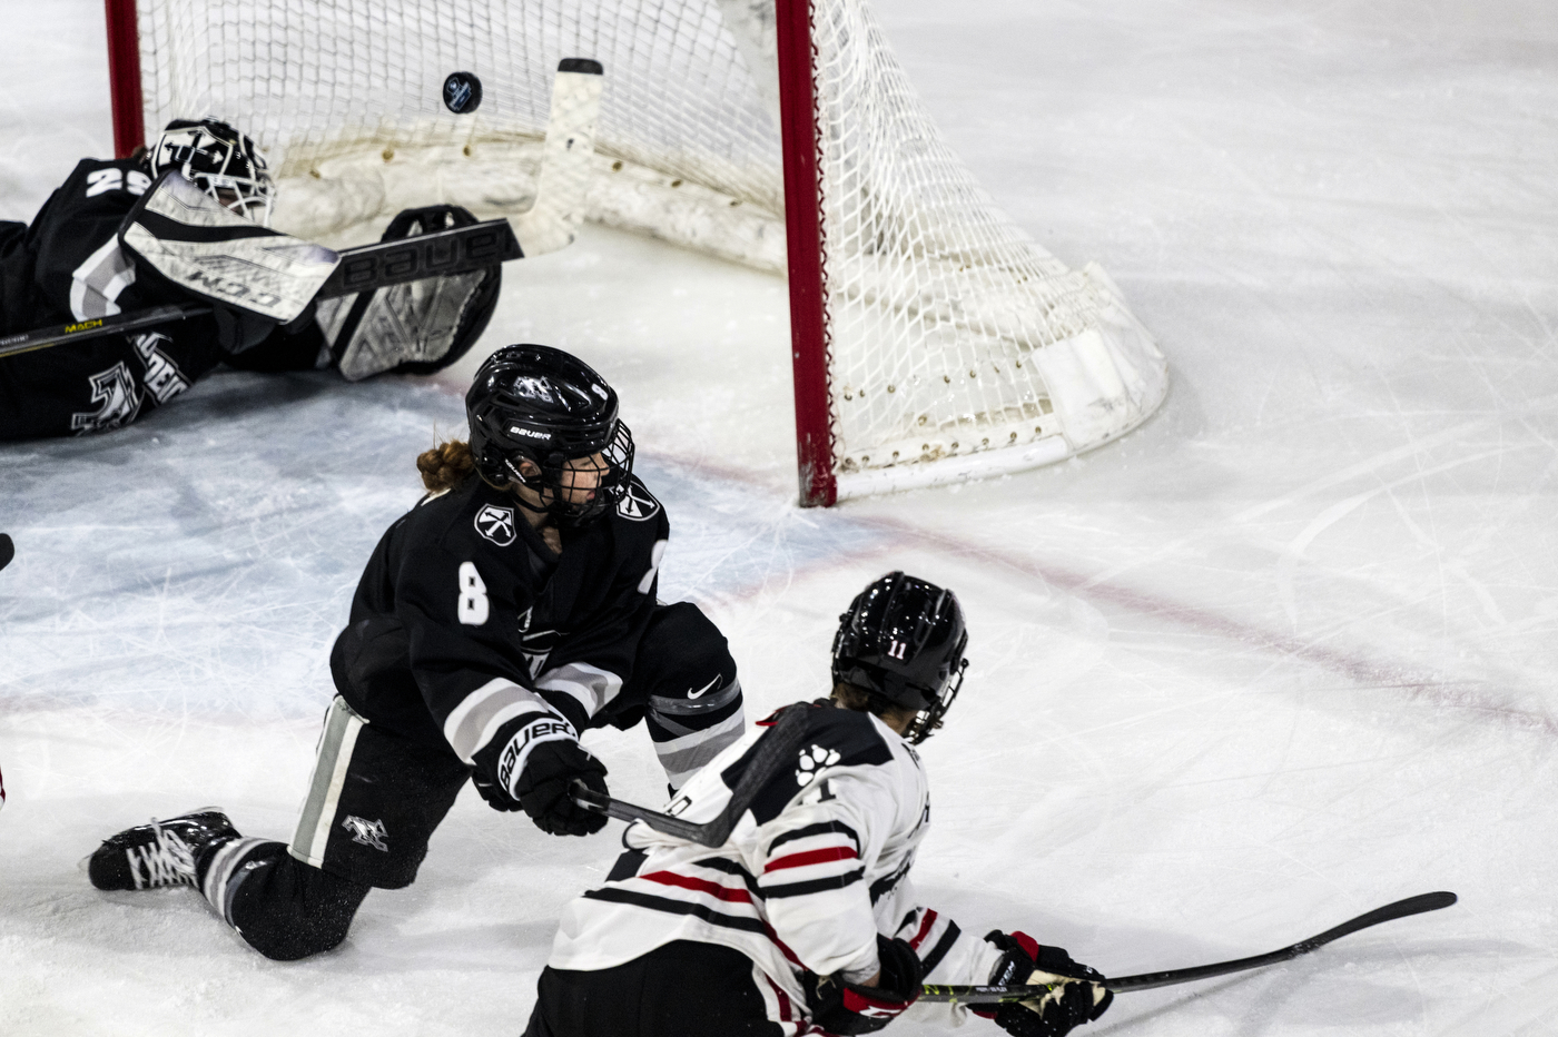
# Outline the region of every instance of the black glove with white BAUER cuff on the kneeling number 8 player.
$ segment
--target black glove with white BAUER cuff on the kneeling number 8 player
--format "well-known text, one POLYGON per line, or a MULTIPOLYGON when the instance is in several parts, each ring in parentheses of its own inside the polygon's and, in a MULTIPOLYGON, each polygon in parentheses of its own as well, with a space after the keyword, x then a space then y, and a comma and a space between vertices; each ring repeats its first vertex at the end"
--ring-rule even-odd
POLYGON ((594 835, 606 816, 573 802, 578 779, 606 794, 606 765, 580 744, 556 713, 528 713, 505 724, 475 757, 471 783, 492 810, 523 810, 547 835, 594 835))

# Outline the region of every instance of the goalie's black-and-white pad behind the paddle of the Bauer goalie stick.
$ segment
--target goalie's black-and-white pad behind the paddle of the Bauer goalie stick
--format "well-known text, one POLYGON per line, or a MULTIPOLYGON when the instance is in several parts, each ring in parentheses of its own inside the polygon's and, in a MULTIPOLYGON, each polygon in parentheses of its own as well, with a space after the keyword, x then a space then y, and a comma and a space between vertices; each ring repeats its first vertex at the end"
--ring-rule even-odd
MULTIPOLYGON (((385 241, 475 223, 458 206, 407 209, 385 230, 385 241)), ((497 308, 503 266, 472 274, 428 277, 372 293, 327 299, 318 322, 347 381, 375 374, 432 374, 463 357, 497 308)))

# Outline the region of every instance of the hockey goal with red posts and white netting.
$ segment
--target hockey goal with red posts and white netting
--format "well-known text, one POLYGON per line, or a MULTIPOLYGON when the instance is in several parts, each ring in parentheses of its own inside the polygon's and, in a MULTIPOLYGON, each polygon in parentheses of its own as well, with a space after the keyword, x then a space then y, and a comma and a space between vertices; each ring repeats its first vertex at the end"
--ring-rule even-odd
POLYGON ((213 115, 276 224, 534 201, 552 76, 606 69, 587 218, 788 272, 801 503, 1016 472, 1130 431, 1167 369, 943 143, 868 0, 106 0, 120 156, 213 115), (474 112, 444 107, 474 73, 474 112))

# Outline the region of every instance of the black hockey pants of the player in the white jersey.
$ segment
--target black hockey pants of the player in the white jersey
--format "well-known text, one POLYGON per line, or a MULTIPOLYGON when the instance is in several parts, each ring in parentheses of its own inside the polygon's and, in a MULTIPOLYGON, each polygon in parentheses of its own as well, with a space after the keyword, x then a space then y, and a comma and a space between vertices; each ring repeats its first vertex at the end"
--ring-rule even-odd
POLYGON ((615 968, 552 968, 536 983, 525 1037, 777 1037, 753 961, 676 940, 615 968))

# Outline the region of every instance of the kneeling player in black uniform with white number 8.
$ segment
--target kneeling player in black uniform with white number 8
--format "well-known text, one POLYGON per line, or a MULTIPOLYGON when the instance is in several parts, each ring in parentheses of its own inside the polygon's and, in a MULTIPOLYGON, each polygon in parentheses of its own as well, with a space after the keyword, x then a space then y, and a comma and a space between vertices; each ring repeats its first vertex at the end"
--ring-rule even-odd
POLYGON ((346 937, 371 888, 416 878, 466 782, 544 831, 605 817, 580 732, 648 727, 671 786, 743 729, 735 663, 690 603, 656 603, 668 537, 633 475, 617 394, 576 358, 506 346, 466 397, 471 441, 418 458, 428 495, 374 548, 335 642, 337 698, 290 844, 215 808, 129 828, 87 861, 98 889, 196 886, 260 953, 346 937))

